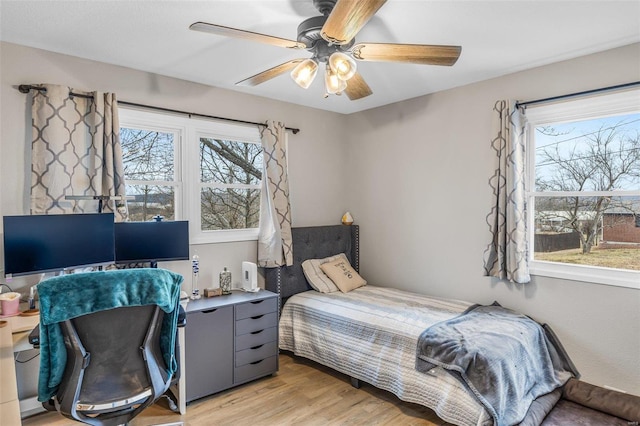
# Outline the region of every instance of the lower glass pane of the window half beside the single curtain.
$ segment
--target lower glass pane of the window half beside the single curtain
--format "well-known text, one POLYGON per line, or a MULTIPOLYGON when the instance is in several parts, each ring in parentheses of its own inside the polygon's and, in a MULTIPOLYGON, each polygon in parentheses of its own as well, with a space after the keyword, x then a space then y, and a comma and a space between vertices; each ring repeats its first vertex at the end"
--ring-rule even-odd
POLYGON ((201 201, 203 231, 258 227, 259 189, 203 188, 201 201))

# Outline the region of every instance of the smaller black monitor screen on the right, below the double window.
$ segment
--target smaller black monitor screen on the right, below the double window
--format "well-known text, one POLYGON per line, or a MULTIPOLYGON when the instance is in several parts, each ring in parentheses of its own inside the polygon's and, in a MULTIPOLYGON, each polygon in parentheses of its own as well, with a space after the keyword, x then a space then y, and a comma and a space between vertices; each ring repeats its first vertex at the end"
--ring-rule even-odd
POLYGON ((115 224, 116 263, 189 259, 189 222, 115 224))

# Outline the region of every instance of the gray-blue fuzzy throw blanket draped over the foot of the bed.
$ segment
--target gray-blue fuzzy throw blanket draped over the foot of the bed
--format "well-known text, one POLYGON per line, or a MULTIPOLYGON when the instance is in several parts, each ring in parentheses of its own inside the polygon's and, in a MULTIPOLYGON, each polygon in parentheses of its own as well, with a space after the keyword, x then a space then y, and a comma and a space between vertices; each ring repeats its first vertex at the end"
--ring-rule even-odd
POLYGON ((518 424, 536 398, 577 374, 548 331, 497 304, 476 305, 422 332, 416 369, 441 366, 471 390, 495 425, 518 424))

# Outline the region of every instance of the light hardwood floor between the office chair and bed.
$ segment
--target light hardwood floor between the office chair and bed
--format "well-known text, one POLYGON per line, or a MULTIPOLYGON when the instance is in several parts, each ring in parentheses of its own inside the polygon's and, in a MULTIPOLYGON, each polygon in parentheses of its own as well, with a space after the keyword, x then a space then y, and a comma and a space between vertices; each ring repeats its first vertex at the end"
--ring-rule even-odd
MULTIPOLYGON (((280 354, 277 374, 192 402, 180 416, 166 402, 149 407, 131 422, 147 426, 183 421, 200 425, 449 425, 428 408, 400 401, 395 395, 304 358, 280 354)), ((57 413, 43 413, 23 426, 78 423, 57 413)))

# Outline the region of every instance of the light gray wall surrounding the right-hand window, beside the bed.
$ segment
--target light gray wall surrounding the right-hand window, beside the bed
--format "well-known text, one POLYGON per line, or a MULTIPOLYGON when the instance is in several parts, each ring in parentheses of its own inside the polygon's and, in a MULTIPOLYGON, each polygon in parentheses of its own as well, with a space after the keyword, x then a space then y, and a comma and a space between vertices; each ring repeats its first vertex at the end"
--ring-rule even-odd
POLYGON ((640 77, 640 45, 349 116, 350 199, 369 282, 502 305, 547 322, 583 379, 640 395, 640 291, 483 277, 491 207, 491 108, 640 77))

